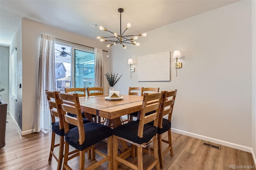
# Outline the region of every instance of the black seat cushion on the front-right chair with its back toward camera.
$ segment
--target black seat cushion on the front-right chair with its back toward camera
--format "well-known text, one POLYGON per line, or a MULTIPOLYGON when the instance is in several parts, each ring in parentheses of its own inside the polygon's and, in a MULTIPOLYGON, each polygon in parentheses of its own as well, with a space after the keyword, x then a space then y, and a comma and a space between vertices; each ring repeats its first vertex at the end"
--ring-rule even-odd
POLYGON ((125 138, 137 144, 149 142, 157 133, 157 128, 152 125, 145 124, 143 137, 138 136, 139 121, 131 121, 113 129, 113 134, 121 138, 125 138))

